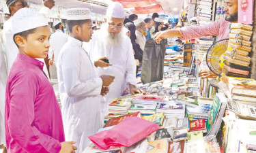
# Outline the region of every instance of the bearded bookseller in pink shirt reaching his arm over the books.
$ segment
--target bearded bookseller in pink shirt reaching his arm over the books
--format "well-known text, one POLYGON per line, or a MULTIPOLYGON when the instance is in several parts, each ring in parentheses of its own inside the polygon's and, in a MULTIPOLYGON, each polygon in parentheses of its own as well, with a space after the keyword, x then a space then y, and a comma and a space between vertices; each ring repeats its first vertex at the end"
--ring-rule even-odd
MULTIPOLYGON (((196 37, 205 36, 218 36, 218 40, 229 38, 229 24, 231 22, 238 22, 238 0, 225 0, 225 18, 221 20, 216 20, 210 24, 205 24, 203 26, 190 26, 182 29, 171 29, 168 31, 161 31, 156 33, 156 41, 159 42, 161 39, 166 39, 167 37, 179 37, 182 40, 194 39, 196 37)), ((217 75, 212 73, 210 69, 203 69, 199 76, 202 78, 216 78, 217 75)))

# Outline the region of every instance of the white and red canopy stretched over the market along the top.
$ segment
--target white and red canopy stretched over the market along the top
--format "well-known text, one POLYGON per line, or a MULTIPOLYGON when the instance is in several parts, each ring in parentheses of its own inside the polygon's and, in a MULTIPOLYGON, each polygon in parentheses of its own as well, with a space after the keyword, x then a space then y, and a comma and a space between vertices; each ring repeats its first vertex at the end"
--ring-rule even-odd
MULTIPOLYGON (((27 0, 29 3, 42 5, 42 0, 27 0)), ((55 0, 59 8, 87 7, 91 12, 105 14, 106 8, 113 1, 118 1, 124 6, 126 13, 152 14, 154 12, 168 15, 181 13, 184 0, 55 0)))

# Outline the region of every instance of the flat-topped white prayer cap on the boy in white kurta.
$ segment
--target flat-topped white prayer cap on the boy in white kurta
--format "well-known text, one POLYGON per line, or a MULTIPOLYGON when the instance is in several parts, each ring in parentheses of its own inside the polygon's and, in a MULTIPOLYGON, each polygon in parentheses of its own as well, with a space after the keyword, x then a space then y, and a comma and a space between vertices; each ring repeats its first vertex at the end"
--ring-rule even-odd
POLYGON ((91 19, 91 11, 88 8, 71 8, 67 12, 67 20, 91 19))

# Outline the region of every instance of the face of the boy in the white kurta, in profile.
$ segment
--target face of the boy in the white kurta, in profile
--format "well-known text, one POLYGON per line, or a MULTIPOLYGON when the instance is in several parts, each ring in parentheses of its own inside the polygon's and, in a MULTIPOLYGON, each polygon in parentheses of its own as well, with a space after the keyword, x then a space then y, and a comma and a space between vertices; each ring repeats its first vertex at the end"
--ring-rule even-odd
POLYGON ((91 21, 83 24, 83 26, 81 27, 81 33, 80 33, 81 41, 85 41, 85 42, 90 41, 91 35, 94 33, 91 27, 92 27, 91 21))

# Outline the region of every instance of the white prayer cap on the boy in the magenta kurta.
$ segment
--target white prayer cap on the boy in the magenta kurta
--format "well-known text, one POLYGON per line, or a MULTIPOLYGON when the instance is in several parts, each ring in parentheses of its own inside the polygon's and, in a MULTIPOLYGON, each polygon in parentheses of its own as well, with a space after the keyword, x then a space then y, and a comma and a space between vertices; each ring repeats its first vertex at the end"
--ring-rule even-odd
POLYGON ((39 12, 22 8, 12 17, 12 31, 14 34, 28 31, 42 26, 48 26, 48 21, 39 12))

